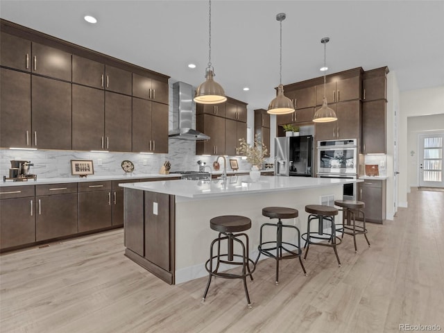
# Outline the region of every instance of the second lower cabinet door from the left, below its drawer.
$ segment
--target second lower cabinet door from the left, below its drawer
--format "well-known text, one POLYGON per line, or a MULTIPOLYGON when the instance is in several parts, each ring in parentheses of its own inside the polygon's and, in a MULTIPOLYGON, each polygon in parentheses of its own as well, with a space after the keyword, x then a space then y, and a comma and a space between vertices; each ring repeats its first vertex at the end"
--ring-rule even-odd
POLYGON ((76 234, 77 194, 36 196, 35 240, 44 241, 76 234))

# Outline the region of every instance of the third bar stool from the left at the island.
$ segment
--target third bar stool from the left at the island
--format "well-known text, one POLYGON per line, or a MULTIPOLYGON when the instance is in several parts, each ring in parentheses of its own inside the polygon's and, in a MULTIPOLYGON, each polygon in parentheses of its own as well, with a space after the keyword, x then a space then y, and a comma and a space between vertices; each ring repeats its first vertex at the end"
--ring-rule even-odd
POLYGON ((336 225, 334 225, 334 216, 338 214, 338 210, 335 207, 327 206, 327 205, 306 205, 305 212, 309 213, 307 220, 307 232, 302 234, 302 239, 305 240, 304 248, 305 250, 304 260, 307 258, 308 250, 310 248, 310 244, 312 245, 321 245, 321 246, 329 246, 333 248, 334 254, 336 255, 336 260, 338 261, 339 267, 341 267, 341 261, 339 260, 338 251, 336 250, 336 246, 341 244, 342 239, 336 236, 336 225), (318 220, 318 231, 310 232, 310 223, 311 221, 318 220), (327 220, 331 222, 331 233, 323 232, 323 221, 327 220), (328 241, 325 243, 315 243, 311 241, 311 239, 318 239, 321 241, 328 241))

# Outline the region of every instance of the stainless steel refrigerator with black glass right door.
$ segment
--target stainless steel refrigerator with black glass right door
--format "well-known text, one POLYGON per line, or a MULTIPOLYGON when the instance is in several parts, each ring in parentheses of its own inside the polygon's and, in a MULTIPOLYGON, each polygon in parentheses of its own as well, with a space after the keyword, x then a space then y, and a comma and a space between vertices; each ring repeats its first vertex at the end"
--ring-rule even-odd
POLYGON ((313 177, 313 135, 275 138, 275 175, 313 177))

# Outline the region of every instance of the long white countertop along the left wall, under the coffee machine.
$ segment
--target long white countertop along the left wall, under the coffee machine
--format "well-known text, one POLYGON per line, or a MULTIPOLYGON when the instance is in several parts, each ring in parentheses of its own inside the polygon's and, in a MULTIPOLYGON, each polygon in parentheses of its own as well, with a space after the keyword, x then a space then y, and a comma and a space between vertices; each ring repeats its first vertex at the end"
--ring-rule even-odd
POLYGON ((0 182, 0 187, 6 186, 21 186, 21 185, 44 185, 44 184, 61 184, 64 182, 101 182, 105 180, 130 180, 141 178, 174 178, 180 177, 178 173, 170 173, 169 175, 160 175, 159 173, 141 173, 128 176, 87 176, 86 178, 80 177, 60 177, 60 178, 38 178, 37 180, 29 179, 24 182, 14 182, 12 180, 6 180, 6 182, 0 182))

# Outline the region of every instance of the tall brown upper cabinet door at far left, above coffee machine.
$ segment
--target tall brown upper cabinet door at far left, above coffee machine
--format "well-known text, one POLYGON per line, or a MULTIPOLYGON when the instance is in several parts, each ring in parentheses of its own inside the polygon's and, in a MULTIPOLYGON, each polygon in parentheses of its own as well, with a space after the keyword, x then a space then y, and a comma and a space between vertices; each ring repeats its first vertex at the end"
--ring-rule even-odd
POLYGON ((0 146, 31 147, 31 75, 0 68, 0 146))

